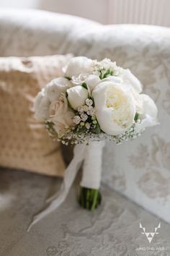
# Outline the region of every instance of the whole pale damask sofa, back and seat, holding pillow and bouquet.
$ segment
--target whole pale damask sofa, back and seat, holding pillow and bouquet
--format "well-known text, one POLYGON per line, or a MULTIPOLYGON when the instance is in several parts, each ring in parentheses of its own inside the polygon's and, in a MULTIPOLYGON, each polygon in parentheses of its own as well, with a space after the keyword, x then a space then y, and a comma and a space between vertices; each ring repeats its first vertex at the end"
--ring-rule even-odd
POLYGON ((68 53, 107 57, 130 68, 143 82, 144 92, 156 101, 160 125, 133 142, 107 143, 103 203, 96 212, 79 208, 73 187, 61 208, 30 233, 32 216, 61 179, 1 168, 0 255, 170 255, 170 29, 101 25, 35 10, 0 12, 0 56, 68 53), (151 244, 139 225, 151 232, 159 222, 153 250, 146 252, 151 244), (156 251, 156 247, 163 249, 156 251))

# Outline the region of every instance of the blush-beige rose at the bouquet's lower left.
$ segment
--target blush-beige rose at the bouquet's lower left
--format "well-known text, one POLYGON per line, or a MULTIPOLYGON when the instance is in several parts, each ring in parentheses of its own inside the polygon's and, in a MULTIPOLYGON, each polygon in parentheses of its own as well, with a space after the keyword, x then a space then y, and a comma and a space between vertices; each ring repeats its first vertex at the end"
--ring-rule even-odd
POLYGON ((61 136, 68 127, 72 127, 74 112, 68 108, 68 103, 65 95, 61 95, 57 101, 50 104, 49 109, 50 121, 53 121, 54 129, 61 136))

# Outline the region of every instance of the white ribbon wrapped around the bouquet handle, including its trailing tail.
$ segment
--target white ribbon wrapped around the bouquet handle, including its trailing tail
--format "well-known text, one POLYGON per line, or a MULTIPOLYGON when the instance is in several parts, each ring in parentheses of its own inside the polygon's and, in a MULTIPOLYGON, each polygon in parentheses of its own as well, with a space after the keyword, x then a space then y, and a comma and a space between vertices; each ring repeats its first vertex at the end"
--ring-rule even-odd
POLYGON ((104 143, 104 141, 91 142, 89 145, 81 144, 74 147, 73 160, 66 168, 60 191, 56 192, 53 197, 48 199, 47 202, 50 202, 50 205, 48 205, 48 208, 34 216, 27 231, 30 231, 35 223, 58 208, 66 199, 82 161, 84 161, 84 171, 81 186, 91 189, 99 189, 102 172, 102 148, 104 147, 104 143))

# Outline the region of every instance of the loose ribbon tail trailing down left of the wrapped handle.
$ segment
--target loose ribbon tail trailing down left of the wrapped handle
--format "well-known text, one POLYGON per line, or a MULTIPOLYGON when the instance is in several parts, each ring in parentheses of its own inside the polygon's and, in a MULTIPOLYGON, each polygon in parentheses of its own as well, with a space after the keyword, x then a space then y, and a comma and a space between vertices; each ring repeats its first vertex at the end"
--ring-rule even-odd
POLYGON ((48 206, 48 208, 42 210, 42 212, 34 216, 33 221, 30 223, 30 226, 27 229, 28 232, 30 231, 32 226, 35 225, 35 223, 37 223, 42 218, 51 213, 53 210, 58 208, 66 199, 66 196, 68 195, 71 185, 73 184, 73 181, 76 177, 76 174, 79 171, 81 163, 84 160, 85 148, 85 145, 75 146, 73 150, 73 160, 66 168, 66 173, 63 179, 63 186, 61 187, 60 192, 57 192, 55 193, 55 195, 53 195, 53 197, 50 197, 50 205, 48 206))

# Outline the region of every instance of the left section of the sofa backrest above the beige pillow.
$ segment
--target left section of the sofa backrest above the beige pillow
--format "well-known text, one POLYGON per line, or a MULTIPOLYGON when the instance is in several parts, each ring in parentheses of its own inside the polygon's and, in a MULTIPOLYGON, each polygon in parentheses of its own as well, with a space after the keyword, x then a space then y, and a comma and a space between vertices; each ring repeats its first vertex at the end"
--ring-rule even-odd
POLYGON ((65 54, 71 36, 101 26, 81 17, 37 10, 0 11, 0 56, 65 54))

